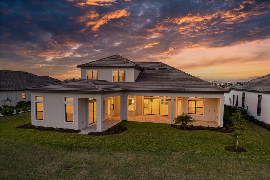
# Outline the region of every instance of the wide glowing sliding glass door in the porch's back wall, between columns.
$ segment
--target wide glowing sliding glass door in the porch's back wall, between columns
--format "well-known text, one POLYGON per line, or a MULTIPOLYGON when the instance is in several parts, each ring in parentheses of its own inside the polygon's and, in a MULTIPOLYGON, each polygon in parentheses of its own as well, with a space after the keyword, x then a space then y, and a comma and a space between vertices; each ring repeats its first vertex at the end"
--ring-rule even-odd
POLYGON ((168 99, 144 99, 144 114, 168 115, 168 99))

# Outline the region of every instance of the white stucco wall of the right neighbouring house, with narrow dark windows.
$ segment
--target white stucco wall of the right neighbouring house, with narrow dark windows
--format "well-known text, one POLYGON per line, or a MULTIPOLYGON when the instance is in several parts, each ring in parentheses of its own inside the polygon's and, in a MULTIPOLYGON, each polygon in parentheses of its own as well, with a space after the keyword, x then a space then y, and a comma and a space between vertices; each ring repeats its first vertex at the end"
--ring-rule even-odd
POLYGON ((248 115, 254 116, 260 121, 270 123, 270 94, 261 92, 247 92, 247 91, 236 91, 231 90, 230 93, 225 94, 225 104, 232 105, 233 95, 235 95, 235 105, 236 97, 238 95, 238 106, 242 106, 242 93, 245 93, 245 109, 248 110, 248 115), (258 105, 258 95, 262 95, 262 105, 261 105, 261 115, 257 115, 257 105, 258 105), (232 98, 230 103, 229 98, 232 98))

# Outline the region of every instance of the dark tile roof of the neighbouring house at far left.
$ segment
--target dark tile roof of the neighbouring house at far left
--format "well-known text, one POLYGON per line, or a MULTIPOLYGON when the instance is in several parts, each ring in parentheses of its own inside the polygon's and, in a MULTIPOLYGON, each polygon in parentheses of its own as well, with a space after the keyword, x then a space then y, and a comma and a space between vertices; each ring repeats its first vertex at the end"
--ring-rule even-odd
POLYGON ((21 91, 32 86, 53 83, 55 81, 25 71, 0 70, 0 91, 21 91))

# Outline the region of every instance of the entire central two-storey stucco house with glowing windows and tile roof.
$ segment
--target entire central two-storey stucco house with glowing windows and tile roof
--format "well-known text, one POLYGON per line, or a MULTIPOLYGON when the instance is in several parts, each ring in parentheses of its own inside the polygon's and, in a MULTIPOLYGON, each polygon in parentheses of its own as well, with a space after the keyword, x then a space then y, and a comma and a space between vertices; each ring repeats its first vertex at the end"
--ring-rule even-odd
POLYGON ((229 91, 162 62, 132 62, 120 55, 78 65, 81 79, 28 88, 32 125, 82 129, 103 120, 132 116, 168 119, 182 112, 223 126, 229 91), (144 116, 146 117, 146 116, 144 116))

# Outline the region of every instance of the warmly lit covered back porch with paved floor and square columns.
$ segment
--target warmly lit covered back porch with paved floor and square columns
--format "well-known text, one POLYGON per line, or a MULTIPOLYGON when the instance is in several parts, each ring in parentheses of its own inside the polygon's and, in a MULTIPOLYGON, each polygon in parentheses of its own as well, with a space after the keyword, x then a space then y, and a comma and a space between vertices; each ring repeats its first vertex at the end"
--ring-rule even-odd
POLYGON ((89 124, 80 129, 84 132, 102 132, 122 120, 173 124, 183 112, 195 119, 194 126, 223 126, 224 94, 119 92, 88 102, 89 124))

